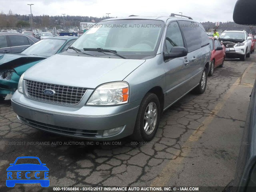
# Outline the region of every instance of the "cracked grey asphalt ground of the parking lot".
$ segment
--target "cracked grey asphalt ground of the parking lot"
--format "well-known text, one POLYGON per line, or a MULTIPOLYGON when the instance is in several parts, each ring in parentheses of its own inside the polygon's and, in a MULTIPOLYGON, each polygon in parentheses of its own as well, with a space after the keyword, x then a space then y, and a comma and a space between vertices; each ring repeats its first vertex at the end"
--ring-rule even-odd
MULTIPOLYGON (((10 102, 0 101, 0 186, 19 156, 39 157, 50 169, 50 186, 226 186, 236 170, 255 62, 256 54, 246 62, 226 60, 208 77, 206 92, 188 94, 166 110, 155 138, 142 144, 42 132, 22 124, 10 102)), ((23 186, 1 191, 46 190, 23 186)))

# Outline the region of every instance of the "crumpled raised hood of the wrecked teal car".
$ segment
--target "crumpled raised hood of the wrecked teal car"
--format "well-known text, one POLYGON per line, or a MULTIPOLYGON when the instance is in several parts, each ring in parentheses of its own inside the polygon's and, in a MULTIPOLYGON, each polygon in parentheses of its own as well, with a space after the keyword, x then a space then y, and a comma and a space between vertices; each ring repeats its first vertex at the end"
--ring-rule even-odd
POLYGON ((0 54, 0 70, 16 68, 18 66, 45 58, 45 56, 30 54, 0 54))

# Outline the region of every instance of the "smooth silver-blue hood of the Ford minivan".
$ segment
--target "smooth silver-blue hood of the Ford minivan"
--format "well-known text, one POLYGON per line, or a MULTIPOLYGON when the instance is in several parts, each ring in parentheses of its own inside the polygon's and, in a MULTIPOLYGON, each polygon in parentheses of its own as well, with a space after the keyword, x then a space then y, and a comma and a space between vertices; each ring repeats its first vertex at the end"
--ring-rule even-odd
POLYGON ((28 69, 24 79, 96 88, 103 83, 122 81, 144 62, 145 60, 56 54, 28 69))

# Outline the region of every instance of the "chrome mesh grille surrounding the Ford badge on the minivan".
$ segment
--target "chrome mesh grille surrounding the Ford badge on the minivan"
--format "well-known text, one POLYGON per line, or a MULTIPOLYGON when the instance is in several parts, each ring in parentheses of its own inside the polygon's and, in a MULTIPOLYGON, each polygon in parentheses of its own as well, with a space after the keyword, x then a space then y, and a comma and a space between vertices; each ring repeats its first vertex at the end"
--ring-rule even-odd
POLYGON ((82 87, 64 86, 26 80, 26 92, 28 96, 45 102, 76 105, 81 101, 86 90, 86 88, 82 87), (44 94, 45 89, 54 90, 55 94, 51 96, 46 95, 44 94))

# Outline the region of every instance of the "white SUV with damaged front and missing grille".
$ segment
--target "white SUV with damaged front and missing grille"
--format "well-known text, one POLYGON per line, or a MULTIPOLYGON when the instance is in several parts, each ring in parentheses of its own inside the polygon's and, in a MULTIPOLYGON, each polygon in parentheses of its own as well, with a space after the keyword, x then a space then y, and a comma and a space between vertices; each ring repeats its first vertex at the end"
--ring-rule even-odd
POLYGON ((226 47, 226 58, 245 61, 246 57, 250 57, 252 38, 245 30, 225 30, 218 40, 226 47))

